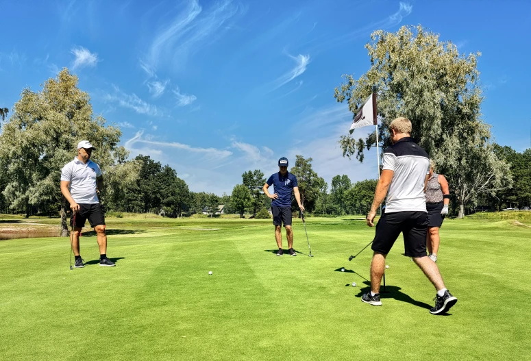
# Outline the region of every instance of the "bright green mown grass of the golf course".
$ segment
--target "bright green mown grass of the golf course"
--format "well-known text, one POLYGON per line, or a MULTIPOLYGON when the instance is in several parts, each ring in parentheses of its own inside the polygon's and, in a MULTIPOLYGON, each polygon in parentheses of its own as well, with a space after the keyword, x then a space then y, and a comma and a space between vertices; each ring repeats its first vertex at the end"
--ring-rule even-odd
POLYGON ((295 258, 271 253, 271 220, 110 218, 114 268, 91 233, 73 271, 68 238, 1 241, 0 360, 530 359, 531 228, 445 221, 438 264, 459 301, 433 316, 402 238, 383 306, 360 301, 371 252, 347 258, 374 229, 355 218, 309 218, 314 258, 299 220, 295 258))

